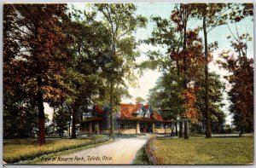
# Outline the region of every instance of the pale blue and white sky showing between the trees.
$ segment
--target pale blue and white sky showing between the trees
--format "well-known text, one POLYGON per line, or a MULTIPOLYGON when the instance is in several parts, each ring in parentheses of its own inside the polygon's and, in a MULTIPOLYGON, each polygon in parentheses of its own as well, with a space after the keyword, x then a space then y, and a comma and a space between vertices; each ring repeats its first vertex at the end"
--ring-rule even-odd
MULTIPOLYGON (((73 3, 74 7, 76 9, 81 9, 84 10, 86 8, 86 5, 84 3, 73 3)), ((154 29, 154 23, 150 20, 150 16, 160 16, 162 18, 169 19, 172 9, 174 7, 174 3, 136 3, 137 5, 137 11, 136 14, 142 14, 144 17, 148 19, 148 25, 146 28, 139 28, 137 29, 137 32, 135 33, 135 37, 137 40, 139 39, 146 39, 149 38, 151 35, 151 32, 154 29)), ((201 24, 199 21, 197 22, 189 22, 189 26, 195 27, 198 24, 201 24)), ((230 29, 234 32, 235 26, 230 25, 230 29)), ((245 20, 241 20, 237 24, 237 29, 239 32, 244 33, 248 32, 250 35, 253 36, 253 21, 249 18, 245 20)), ((218 26, 217 28, 213 29, 211 32, 208 34, 208 43, 212 43, 214 41, 218 41, 218 49, 213 52, 213 61, 212 63, 209 64, 209 71, 210 72, 217 72, 220 74, 220 80, 223 82, 227 82, 224 80, 223 76, 227 74, 223 69, 220 69, 218 65, 214 63, 214 61, 218 58, 218 54, 223 51, 224 49, 230 49, 230 41, 226 38, 228 35, 230 35, 230 31, 228 26, 218 26)), ((202 34, 201 34, 202 37, 202 34)), ((141 44, 138 46, 138 49, 141 52, 141 55, 137 58, 137 62, 142 62, 146 61, 148 59, 147 55, 143 54, 148 52, 148 50, 154 50, 154 48, 151 45, 148 44, 141 44)), ((158 48, 159 49, 159 48, 158 48)), ((161 49, 163 53, 166 52, 165 49, 161 49)), ((248 56, 253 57, 253 41, 248 43, 248 56)), ((143 99, 147 100, 148 99, 148 90, 154 87, 155 82, 157 81, 158 78, 160 78, 161 73, 158 72, 158 70, 144 70, 143 71, 143 76, 138 77, 137 81, 137 87, 129 88, 129 92, 131 96, 133 97, 132 99, 122 99, 122 102, 125 103, 130 103, 130 102, 135 102, 135 98, 137 96, 143 97, 143 99)), ((228 85, 227 85, 228 86, 228 85)), ((230 124, 231 121, 231 116, 229 116, 229 110, 228 106, 230 104, 229 101, 227 101, 227 94, 224 92, 224 103, 225 106, 223 108, 224 113, 228 115, 226 119, 226 123, 230 124)), ((45 111, 46 113, 49 113, 50 119, 52 119, 52 109, 45 103, 44 104, 45 111)))

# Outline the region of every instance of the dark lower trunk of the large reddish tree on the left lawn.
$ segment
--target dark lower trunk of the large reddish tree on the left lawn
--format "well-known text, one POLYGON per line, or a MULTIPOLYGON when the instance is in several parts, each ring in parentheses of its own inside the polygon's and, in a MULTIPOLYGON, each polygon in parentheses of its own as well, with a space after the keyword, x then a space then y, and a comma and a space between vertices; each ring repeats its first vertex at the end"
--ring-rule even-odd
POLYGON ((39 145, 45 143, 45 125, 44 125, 44 98, 41 87, 43 85, 42 77, 38 77, 38 124, 39 124, 39 145))

